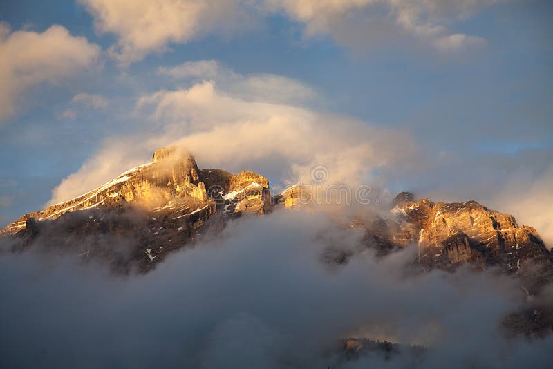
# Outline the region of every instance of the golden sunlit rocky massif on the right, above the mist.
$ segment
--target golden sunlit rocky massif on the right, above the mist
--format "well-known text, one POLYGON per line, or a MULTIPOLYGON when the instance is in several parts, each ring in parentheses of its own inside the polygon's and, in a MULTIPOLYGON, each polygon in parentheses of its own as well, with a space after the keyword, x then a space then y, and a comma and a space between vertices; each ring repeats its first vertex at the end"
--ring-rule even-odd
POLYGON ((476 201, 435 204, 402 193, 392 212, 403 225, 403 243, 417 243, 419 261, 428 267, 449 269, 470 262, 521 272, 552 261, 536 229, 519 226, 512 215, 476 201))

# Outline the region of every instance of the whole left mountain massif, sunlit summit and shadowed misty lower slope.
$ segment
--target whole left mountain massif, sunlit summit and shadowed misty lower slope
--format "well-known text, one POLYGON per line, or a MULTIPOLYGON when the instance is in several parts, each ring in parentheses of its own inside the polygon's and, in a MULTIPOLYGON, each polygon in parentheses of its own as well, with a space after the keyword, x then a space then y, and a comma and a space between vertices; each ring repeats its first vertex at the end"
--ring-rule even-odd
POLYGON ((21 216, 0 235, 15 236, 12 249, 67 247, 83 258, 104 258, 118 271, 137 263, 147 270, 189 244, 206 223, 265 214, 268 207, 267 178, 200 170, 189 153, 167 147, 153 154, 153 162, 93 191, 21 216))

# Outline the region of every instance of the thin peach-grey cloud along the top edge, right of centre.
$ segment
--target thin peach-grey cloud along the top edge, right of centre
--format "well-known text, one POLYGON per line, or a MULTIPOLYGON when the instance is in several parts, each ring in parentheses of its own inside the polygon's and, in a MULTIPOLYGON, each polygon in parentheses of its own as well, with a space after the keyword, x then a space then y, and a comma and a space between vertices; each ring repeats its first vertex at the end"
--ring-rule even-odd
POLYGON ((440 50, 482 44, 481 37, 449 34, 449 24, 465 19, 500 0, 266 0, 306 25, 306 36, 330 35, 359 48, 393 37, 415 37, 440 50))

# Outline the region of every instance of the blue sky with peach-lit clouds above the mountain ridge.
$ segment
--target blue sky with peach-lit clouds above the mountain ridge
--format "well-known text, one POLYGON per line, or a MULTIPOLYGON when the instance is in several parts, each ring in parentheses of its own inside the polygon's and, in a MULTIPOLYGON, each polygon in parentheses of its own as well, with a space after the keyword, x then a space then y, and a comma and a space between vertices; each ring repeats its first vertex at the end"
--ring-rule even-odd
POLYGON ((553 243, 553 5, 0 3, 0 226, 182 144, 276 189, 324 165, 553 243))

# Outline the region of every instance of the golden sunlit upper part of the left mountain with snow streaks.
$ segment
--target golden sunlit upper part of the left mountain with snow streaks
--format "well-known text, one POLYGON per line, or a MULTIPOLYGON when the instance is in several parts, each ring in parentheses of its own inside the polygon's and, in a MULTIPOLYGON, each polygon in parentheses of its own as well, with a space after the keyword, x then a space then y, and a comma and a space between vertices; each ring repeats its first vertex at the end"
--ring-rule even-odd
POLYGON ((54 220, 78 210, 112 209, 118 206, 115 202, 120 201, 133 202, 147 211, 170 209, 178 203, 182 211, 194 212, 196 209, 209 208, 213 213, 217 205, 224 203, 224 209, 229 214, 240 214, 243 211, 263 213, 268 205, 267 199, 270 200, 268 194, 267 178, 257 173, 243 171, 234 175, 221 169, 200 171, 189 151, 178 146, 168 146, 153 153, 153 162, 129 169, 81 196, 51 205, 43 211, 25 214, 0 230, 0 235, 23 231, 28 227, 27 220, 30 218, 38 221, 54 220), (220 175, 213 176, 215 172, 220 175), (209 193, 206 185, 209 186, 209 193))

